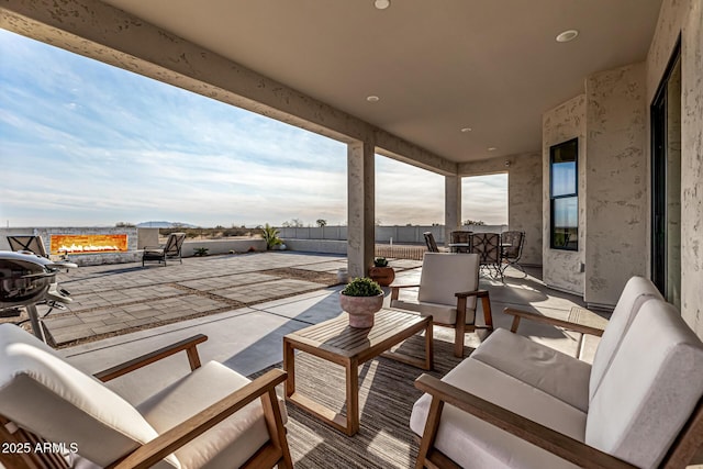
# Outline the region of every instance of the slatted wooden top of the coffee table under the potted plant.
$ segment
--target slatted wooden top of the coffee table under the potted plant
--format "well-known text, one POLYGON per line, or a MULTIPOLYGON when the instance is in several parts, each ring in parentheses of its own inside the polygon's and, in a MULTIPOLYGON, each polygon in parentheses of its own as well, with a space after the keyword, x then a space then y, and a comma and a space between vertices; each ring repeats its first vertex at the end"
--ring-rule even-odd
POLYGON ((286 339, 342 357, 358 357, 370 349, 383 347, 399 334, 409 336, 409 330, 421 331, 431 320, 431 316, 383 308, 376 313, 373 327, 356 328, 349 326, 347 313, 342 313, 334 320, 287 334, 286 339))

